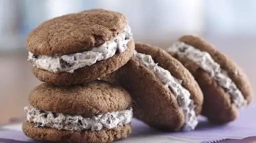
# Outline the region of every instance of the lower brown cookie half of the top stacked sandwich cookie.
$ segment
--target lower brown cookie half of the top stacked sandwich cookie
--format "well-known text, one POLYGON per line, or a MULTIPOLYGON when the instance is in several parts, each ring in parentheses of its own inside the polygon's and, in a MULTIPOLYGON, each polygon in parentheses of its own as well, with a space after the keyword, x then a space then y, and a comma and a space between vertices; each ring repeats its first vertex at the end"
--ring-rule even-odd
POLYGON ((134 41, 127 44, 127 49, 115 54, 112 58, 97 62, 91 66, 86 66, 73 73, 60 72, 53 73, 44 69, 33 67, 33 74, 41 81, 56 85, 71 85, 75 83, 90 82, 99 77, 109 74, 129 61, 133 55, 134 41))

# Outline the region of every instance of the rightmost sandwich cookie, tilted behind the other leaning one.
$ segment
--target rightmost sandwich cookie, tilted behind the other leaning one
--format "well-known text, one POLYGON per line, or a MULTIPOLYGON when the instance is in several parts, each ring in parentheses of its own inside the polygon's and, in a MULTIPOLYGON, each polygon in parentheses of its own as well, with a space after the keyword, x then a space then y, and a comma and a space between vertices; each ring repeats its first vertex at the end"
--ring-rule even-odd
POLYGON ((252 89, 245 73, 214 46, 196 36, 183 36, 168 52, 194 75, 204 94, 202 114, 217 123, 233 121, 250 103, 252 89))

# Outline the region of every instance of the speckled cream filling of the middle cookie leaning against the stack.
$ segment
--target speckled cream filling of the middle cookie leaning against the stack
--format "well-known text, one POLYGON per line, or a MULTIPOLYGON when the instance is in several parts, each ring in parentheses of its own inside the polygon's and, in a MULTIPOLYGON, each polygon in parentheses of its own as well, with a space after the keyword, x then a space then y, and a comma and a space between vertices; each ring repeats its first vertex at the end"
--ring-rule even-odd
POLYGON ((194 101, 189 98, 189 91, 182 86, 182 81, 175 78, 168 70, 158 66, 158 64, 152 59, 151 55, 135 51, 133 58, 153 72, 165 87, 174 93, 185 117, 185 123, 182 130, 194 130, 198 124, 198 119, 194 110, 195 105, 194 101))

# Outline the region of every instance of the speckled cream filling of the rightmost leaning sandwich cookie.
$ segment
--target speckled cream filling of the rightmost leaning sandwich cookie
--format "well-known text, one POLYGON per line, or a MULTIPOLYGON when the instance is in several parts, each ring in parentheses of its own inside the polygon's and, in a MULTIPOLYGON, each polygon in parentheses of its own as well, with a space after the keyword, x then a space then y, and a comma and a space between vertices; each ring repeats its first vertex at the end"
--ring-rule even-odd
POLYGON ((177 41, 168 48, 169 52, 176 53, 178 56, 185 56, 187 59, 196 63, 200 68, 208 72, 218 84, 230 94, 231 101, 241 108, 247 105, 247 101, 238 89, 237 85, 229 78, 227 72, 211 58, 208 52, 201 51, 184 42, 177 41))

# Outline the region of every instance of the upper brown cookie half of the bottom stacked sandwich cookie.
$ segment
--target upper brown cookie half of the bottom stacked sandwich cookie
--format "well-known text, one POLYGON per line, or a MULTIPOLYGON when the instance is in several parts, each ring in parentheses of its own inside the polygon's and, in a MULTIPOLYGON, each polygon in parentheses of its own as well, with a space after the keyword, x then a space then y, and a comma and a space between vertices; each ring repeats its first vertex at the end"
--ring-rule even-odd
POLYGON ((132 106, 130 94, 105 81, 57 86, 42 83, 29 94, 29 103, 44 111, 90 117, 132 106))

